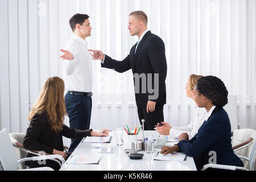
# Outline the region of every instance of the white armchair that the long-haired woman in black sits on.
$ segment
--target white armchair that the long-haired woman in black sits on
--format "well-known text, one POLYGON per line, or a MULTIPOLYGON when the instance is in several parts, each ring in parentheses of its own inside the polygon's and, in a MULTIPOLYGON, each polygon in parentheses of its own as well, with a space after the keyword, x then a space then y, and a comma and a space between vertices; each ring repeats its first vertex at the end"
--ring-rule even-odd
MULTIPOLYGON (((44 155, 39 153, 38 151, 27 150, 26 148, 23 147, 23 140, 25 135, 26 135, 25 133, 9 133, 9 137, 11 139, 11 142, 13 143, 13 146, 15 147, 18 160, 26 158, 27 153, 38 155, 38 156, 44 155)), ((63 146, 63 147, 64 147, 64 151, 67 152, 68 147, 67 146, 63 146)), ((51 155, 51 154, 46 153, 46 155, 51 155)), ((61 163, 58 160, 55 160, 55 162, 57 162, 61 166, 61 163)), ((25 164, 19 164, 19 169, 26 169, 26 168, 27 166, 25 164)))

